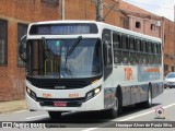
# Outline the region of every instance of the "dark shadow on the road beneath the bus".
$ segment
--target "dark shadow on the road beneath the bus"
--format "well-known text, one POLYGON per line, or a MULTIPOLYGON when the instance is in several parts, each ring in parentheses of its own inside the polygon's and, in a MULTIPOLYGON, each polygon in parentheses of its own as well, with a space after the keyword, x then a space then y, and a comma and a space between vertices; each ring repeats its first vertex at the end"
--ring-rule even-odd
MULTIPOLYGON (((155 107, 161 104, 153 104, 152 107, 155 107)), ((136 114, 144 110, 142 107, 129 106, 122 109, 117 117, 117 119, 121 117, 126 117, 131 114, 136 114)), ((61 118, 58 120, 51 120, 49 117, 40 118, 37 120, 33 120, 30 122, 44 122, 44 123, 104 123, 108 121, 113 121, 114 119, 108 119, 105 111, 83 111, 83 112, 70 112, 63 114, 61 118)))

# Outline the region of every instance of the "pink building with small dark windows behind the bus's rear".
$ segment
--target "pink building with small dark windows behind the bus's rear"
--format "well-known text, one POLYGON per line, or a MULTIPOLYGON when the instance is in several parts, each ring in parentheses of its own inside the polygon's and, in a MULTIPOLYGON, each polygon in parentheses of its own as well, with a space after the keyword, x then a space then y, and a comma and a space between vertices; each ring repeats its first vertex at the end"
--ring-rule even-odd
POLYGON ((119 1, 119 9, 129 19, 128 29, 162 39, 164 53, 164 75, 166 75, 168 72, 175 71, 174 22, 144 11, 121 0, 119 1))

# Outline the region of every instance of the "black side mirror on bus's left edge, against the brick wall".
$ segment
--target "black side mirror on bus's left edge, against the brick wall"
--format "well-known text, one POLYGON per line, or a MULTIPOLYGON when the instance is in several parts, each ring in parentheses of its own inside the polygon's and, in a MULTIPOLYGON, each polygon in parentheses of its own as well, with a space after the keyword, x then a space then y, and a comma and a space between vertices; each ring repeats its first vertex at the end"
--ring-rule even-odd
POLYGON ((26 62, 26 35, 20 39, 19 56, 24 62, 26 62))

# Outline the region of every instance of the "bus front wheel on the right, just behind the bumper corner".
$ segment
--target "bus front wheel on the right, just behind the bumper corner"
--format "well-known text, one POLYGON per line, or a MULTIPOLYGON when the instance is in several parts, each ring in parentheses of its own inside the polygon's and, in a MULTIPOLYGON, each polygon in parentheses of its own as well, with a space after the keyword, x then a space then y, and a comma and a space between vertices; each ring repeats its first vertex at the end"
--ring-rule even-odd
POLYGON ((110 108, 110 109, 107 109, 106 112, 107 112, 107 117, 109 118, 116 118, 117 115, 118 115, 118 98, 115 97, 115 108, 110 108))

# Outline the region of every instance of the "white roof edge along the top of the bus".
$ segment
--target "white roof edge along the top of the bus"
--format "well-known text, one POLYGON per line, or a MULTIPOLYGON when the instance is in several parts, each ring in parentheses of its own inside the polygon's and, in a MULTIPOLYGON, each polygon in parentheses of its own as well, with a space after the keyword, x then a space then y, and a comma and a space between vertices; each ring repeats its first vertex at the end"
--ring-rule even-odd
POLYGON ((75 21, 75 20, 44 21, 44 22, 32 23, 32 24, 30 24, 30 27, 32 25, 61 24, 61 23, 94 23, 94 24, 97 25, 97 27, 101 31, 101 33, 102 33, 102 31, 104 28, 108 28, 108 29, 116 31, 116 32, 119 32, 119 33, 132 35, 135 37, 142 37, 142 38, 147 38, 147 39, 150 39, 150 40, 155 40, 155 41, 162 43, 161 38, 149 36, 149 35, 144 35, 144 34, 141 34, 141 33, 137 33, 137 32, 133 32, 133 31, 125 29, 125 28, 121 28, 121 27, 118 27, 118 26, 114 26, 114 25, 110 25, 110 24, 106 24, 106 23, 103 23, 103 22, 96 22, 96 21, 81 21, 81 20, 79 20, 79 21, 75 21))

